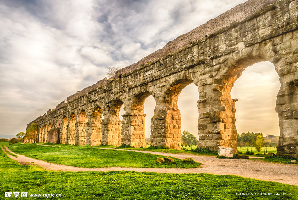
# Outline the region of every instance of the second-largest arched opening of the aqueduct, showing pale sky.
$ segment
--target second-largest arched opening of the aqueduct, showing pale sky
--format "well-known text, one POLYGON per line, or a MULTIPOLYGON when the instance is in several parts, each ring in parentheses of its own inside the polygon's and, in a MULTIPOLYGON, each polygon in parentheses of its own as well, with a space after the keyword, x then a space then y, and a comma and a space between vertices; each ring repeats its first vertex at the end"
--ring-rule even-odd
MULTIPOLYGON (((193 136, 188 136, 181 140, 181 143, 197 145, 198 138, 198 87, 191 83, 187 85, 180 93, 178 99, 178 108, 181 115, 181 135, 183 131, 189 132, 193 136)), ((189 148, 189 147, 187 147, 189 148)), ((192 147, 194 148, 194 146, 192 147)))

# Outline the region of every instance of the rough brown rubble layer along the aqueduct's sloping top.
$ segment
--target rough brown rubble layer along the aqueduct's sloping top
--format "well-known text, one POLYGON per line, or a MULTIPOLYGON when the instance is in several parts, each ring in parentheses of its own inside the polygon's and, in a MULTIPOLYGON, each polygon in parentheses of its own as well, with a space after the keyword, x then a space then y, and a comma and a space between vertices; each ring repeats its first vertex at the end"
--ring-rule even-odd
MULTIPOLYGON (((176 52, 180 48, 190 45, 195 40, 204 39, 205 37, 208 37, 210 34, 215 33, 224 27, 229 28, 230 26, 235 26, 235 24, 237 23, 241 23, 241 21, 248 21, 249 19, 253 18, 254 15, 257 15, 257 12, 260 11, 262 8, 273 3, 273 0, 249 0, 242 4, 239 4, 234 8, 226 11, 225 13, 219 15, 218 17, 210 19, 207 23, 202 24, 199 27, 196 27, 190 32, 185 33, 172 41, 169 41, 162 49, 159 49, 151 53, 150 55, 146 56, 145 58, 139 60, 134 64, 131 64, 127 67, 118 70, 115 79, 119 79, 119 76, 131 72, 139 68, 141 65, 162 58, 163 56, 166 56, 168 53, 176 52)), ((99 85, 104 86, 108 84, 108 82, 109 81, 107 79, 100 80, 96 84, 86 87, 83 90, 78 91, 77 93, 67 97, 67 101, 73 101, 74 99, 77 99, 79 96, 82 96, 83 94, 88 93, 94 88, 97 88, 99 85)), ((63 102, 61 103, 61 105, 63 105, 63 102)), ((61 105, 59 104, 59 107, 61 105)))

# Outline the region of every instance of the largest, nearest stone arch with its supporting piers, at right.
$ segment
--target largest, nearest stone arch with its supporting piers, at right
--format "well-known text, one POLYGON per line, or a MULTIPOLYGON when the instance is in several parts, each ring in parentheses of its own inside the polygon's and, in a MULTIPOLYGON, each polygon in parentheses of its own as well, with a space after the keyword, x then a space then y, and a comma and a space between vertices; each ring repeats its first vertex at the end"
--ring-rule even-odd
POLYGON ((227 56, 222 63, 218 64, 220 70, 214 77, 212 88, 204 85, 206 98, 204 101, 198 102, 198 107, 200 107, 198 124, 200 146, 209 147, 212 150, 215 147, 232 147, 234 153, 236 152, 235 102, 238 99, 231 99, 230 92, 235 81, 247 67, 257 62, 270 61, 274 64, 281 83, 276 102, 276 112, 280 124, 277 152, 297 156, 298 116, 295 117, 295 114, 298 113, 298 108, 295 104, 297 99, 294 97, 298 94, 296 87, 298 86, 298 66, 294 64, 294 50, 289 49, 285 52, 282 49, 285 43, 291 44, 292 41, 293 34, 290 32, 249 47, 239 45, 242 46, 241 49, 227 56), (280 44, 277 44, 276 41, 280 41, 280 44), (212 97, 217 97, 218 100, 210 101, 212 97), (213 104, 212 107, 211 104, 213 104))

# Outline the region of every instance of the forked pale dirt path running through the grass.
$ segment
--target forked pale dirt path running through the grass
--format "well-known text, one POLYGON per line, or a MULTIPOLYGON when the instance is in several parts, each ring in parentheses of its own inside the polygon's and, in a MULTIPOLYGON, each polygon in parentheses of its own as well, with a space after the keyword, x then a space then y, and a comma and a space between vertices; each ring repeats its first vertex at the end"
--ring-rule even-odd
MULTIPOLYGON (((5 147, 5 146, 4 146, 5 147)), ((5 147, 7 151, 10 151, 5 147)), ((103 148, 108 149, 108 148, 103 148)), ((111 149, 110 149, 111 150, 111 149)), ((115 150, 115 149, 114 149, 115 150)), ((119 150, 119 149, 118 149, 119 150)), ((136 151, 136 150, 125 150, 125 151, 136 151)), ((137 172, 157 172, 157 173, 212 173, 219 175, 238 175, 246 178, 259 179, 265 181, 276 181, 285 184, 297 185, 298 186, 298 165, 291 164, 278 164, 269 163, 265 161, 253 161, 244 159, 217 159, 215 156, 201 156, 201 155, 189 155, 184 153, 162 153, 152 151, 136 151, 142 153, 151 153, 162 156, 172 156, 179 159, 186 157, 192 157, 195 161, 202 163, 199 168, 192 169, 181 169, 181 168, 138 168, 138 167, 100 167, 100 168, 82 168, 72 167, 61 164, 52 164, 42 160, 32 159, 23 155, 15 154, 9 156, 18 162, 27 162, 44 167, 47 170, 62 170, 62 171, 112 171, 112 170, 126 170, 126 171, 137 171, 137 172)))

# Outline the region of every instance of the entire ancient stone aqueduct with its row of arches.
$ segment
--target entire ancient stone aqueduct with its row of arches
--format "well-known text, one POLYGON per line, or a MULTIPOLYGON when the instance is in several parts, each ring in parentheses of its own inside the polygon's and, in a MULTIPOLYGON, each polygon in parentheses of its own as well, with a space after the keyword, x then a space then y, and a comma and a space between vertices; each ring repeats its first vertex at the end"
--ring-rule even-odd
POLYGON ((277 153, 297 156, 297 18, 297 0, 246 1, 118 70, 115 79, 103 79, 69 96, 67 103, 30 123, 38 125, 37 142, 145 146, 144 102, 152 95, 156 107, 151 144, 181 149, 177 100, 181 90, 194 83, 199 92, 199 146, 235 151, 237 99, 231 99, 231 89, 246 67, 270 61, 281 83, 277 153))

